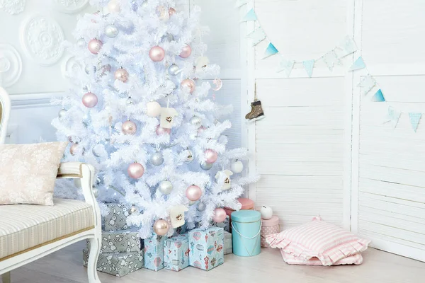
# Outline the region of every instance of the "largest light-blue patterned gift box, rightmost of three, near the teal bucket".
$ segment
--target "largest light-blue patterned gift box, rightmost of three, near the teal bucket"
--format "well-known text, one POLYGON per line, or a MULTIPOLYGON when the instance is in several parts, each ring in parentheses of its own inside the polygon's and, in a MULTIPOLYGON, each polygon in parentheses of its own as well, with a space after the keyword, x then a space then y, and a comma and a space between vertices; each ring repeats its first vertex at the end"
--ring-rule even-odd
POLYGON ((189 231, 189 265, 202 270, 222 265, 224 256, 224 231, 220 227, 189 231))

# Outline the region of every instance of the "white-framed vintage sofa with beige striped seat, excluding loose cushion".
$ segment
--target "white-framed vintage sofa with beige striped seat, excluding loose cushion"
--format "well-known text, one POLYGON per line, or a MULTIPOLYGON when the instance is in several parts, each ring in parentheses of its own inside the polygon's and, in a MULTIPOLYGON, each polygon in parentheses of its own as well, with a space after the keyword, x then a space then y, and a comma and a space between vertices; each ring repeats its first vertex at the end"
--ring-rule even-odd
MULTIPOLYGON (((0 87, 0 144, 6 138, 11 101, 0 87)), ((57 178, 79 178, 85 202, 55 199, 54 206, 0 205, 0 275, 11 282, 11 270, 88 238, 91 243, 89 283, 100 283, 96 271, 101 248, 101 214, 91 190, 94 168, 85 163, 62 163, 57 178)), ((66 262, 63 263, 66 265, 66 262)))

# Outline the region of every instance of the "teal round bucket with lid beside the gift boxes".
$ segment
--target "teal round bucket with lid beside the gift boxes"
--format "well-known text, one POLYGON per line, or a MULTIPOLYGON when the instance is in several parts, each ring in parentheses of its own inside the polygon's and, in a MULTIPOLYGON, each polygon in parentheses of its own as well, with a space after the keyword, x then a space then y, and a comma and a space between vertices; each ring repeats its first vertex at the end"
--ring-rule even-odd
POLYGON ((232 244, 235 255, 250 257, 261 252, 261 214, 255 210, 232 212, 232 244))

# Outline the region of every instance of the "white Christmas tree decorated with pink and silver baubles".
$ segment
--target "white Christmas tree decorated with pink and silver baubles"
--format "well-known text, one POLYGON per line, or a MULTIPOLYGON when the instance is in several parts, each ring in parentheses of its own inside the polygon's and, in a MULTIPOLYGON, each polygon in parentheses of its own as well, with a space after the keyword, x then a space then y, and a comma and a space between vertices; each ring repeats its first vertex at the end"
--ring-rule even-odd
MULTIPOLYGON (((207 78, 220 68, 204 56, 200 8, 179 11, 174 0, 91 0, 100 11, 79 19, 77 45, 84 64, 67 74, 72 89, 52 121, 69 139, 66 161, 96 168, 98 201, 131 206, 129 224, 142 238, 212 220, 256 177, 244 177, 244 149, 226 150, 232 112, 210 98, 207 78)), ((214 81, 220 90, 220 79, 214 81)))

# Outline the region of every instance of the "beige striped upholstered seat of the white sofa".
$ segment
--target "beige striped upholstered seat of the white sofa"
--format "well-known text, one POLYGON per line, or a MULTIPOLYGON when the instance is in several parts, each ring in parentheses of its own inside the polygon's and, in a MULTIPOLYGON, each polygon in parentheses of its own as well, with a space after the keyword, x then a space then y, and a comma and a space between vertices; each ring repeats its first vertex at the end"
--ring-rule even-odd
POLYGON ((90 204, 55 199, 55 205, 0 205, 0 262, 10 255, 94 226, 90 204))

